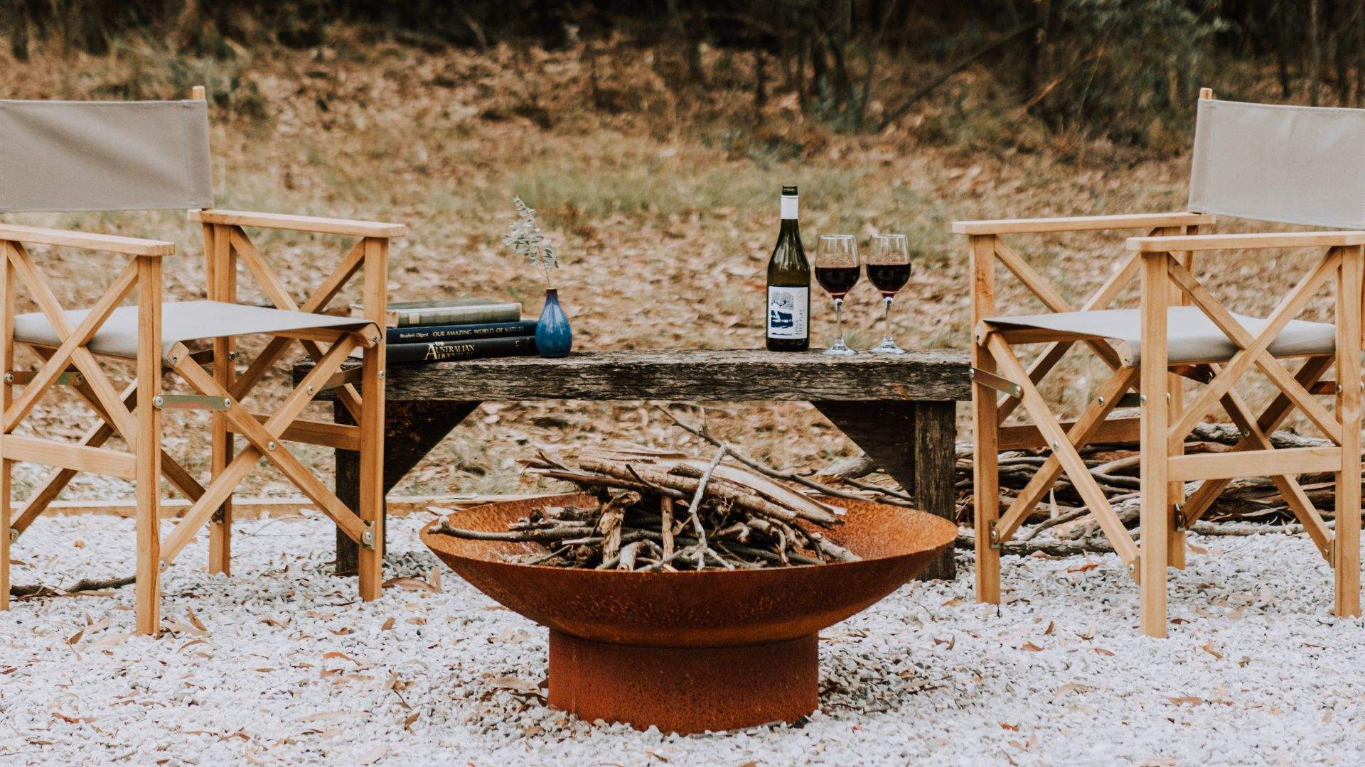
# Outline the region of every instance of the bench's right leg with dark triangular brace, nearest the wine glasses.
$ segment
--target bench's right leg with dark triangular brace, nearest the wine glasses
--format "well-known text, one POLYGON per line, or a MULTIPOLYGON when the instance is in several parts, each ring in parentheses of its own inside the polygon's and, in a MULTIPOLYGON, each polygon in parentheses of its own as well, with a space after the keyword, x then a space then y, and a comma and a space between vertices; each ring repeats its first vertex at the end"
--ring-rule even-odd
MULTIPOLYGON (((956 521, 954 403, 874 400, 811 404, 861 448, 878 468, 913 494, 923 510, 956 521)), ((954 575, 953 551, 947 550, 920 577, 951 580, 954 575)))

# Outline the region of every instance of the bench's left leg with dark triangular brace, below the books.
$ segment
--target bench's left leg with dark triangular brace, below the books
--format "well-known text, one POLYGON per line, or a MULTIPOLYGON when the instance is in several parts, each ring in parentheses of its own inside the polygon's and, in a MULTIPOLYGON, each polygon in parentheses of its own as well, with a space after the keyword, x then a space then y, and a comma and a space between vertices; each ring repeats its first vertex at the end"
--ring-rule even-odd
MULTIPOLYGON (((388 495, 412 467, 418 465, 479 403, 385 403, 384 494, 388 495)), ((340 403, 333 405, 337 423, 354 424, 340 403)), ((337 498, 355 509, 360 502, 360 453, 336 450, 337 498)), ((381 512, 382 513, 382 512, 381 512)), ((378 525, 381 530, 384 524, 378 525)), ((382 551, 384 542, 375 542, 382 551)), ((359 546, 337 530, 336 575, 359 572, 359 546)))

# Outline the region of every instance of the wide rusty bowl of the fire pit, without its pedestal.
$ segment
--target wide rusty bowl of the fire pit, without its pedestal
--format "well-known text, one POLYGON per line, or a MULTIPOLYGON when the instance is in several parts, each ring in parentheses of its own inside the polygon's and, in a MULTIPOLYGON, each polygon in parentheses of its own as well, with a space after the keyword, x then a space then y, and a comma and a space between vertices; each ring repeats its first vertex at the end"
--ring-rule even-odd
MULTIPOLYGON (((464 540, 422 531, 445 564, 504 606, 554 631, 617 644, 725 647, 796 639, 861 611, 915 577, 957 536, 953 523, 897 506, 827 498, 848 509, 824 531, 856 562, 759 570, 643 573, 504 562, 535 543, 464 540)), ((452 515, 470 530, 505 531, 532 508, 591 504, 553 495, 452 515)), ((433 523, 434 524, 434 523, 433 523)))

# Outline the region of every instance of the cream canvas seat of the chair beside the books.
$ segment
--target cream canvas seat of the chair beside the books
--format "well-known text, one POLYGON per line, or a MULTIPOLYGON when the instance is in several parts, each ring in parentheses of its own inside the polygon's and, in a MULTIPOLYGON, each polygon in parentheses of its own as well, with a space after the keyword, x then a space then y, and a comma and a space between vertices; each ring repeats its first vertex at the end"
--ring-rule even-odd
MULTIPOLYGON (((72 328, 90 314, 87 308, 67 310, 72 328)), ((334 314, 285 311, 263 306, 227 302, 167 302, 161 304, 161 356, 167 360, 179 344, 212 341, 221 337, 276 334, 298 330, 333 328, 362 332, 373 323, 334 314)), ((52 322, 41 311, 19 314, 14 318, 14 340, 20 344, 56 348, 61 345, 52 322)), ((138 356, 138 307, 113 310, 87 344, 91 352, 105 356, 134 359, 138 356)))

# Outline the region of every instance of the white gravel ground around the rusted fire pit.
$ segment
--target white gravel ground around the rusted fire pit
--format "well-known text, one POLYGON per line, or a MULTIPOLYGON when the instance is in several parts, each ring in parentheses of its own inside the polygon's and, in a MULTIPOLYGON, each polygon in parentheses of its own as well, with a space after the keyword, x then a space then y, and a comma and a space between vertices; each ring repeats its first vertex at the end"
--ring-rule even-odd
MULTIPOLYGON (((962 560, 956 583, 824 632, 808 722, 674 737, 546 708, 543 629, 441 572, 420 521, 394 520, 405 580, 370 605, 328 575, 317 516, 239 523, 231 579, 187 550, 158 640, 130 636, 131 588, 15 602, 0 763, 1365 763, 1365 624, 1328 616, 1331 573, 1302 538, 1194 538, 1207 553, 1173 573, 1166 640, 1138 636, 1112 557, 1006 560, 999 610, 972 603, 962 560)), ((45 519, 15 581, 124 575, 131 553, 128 520, 45 519)))

